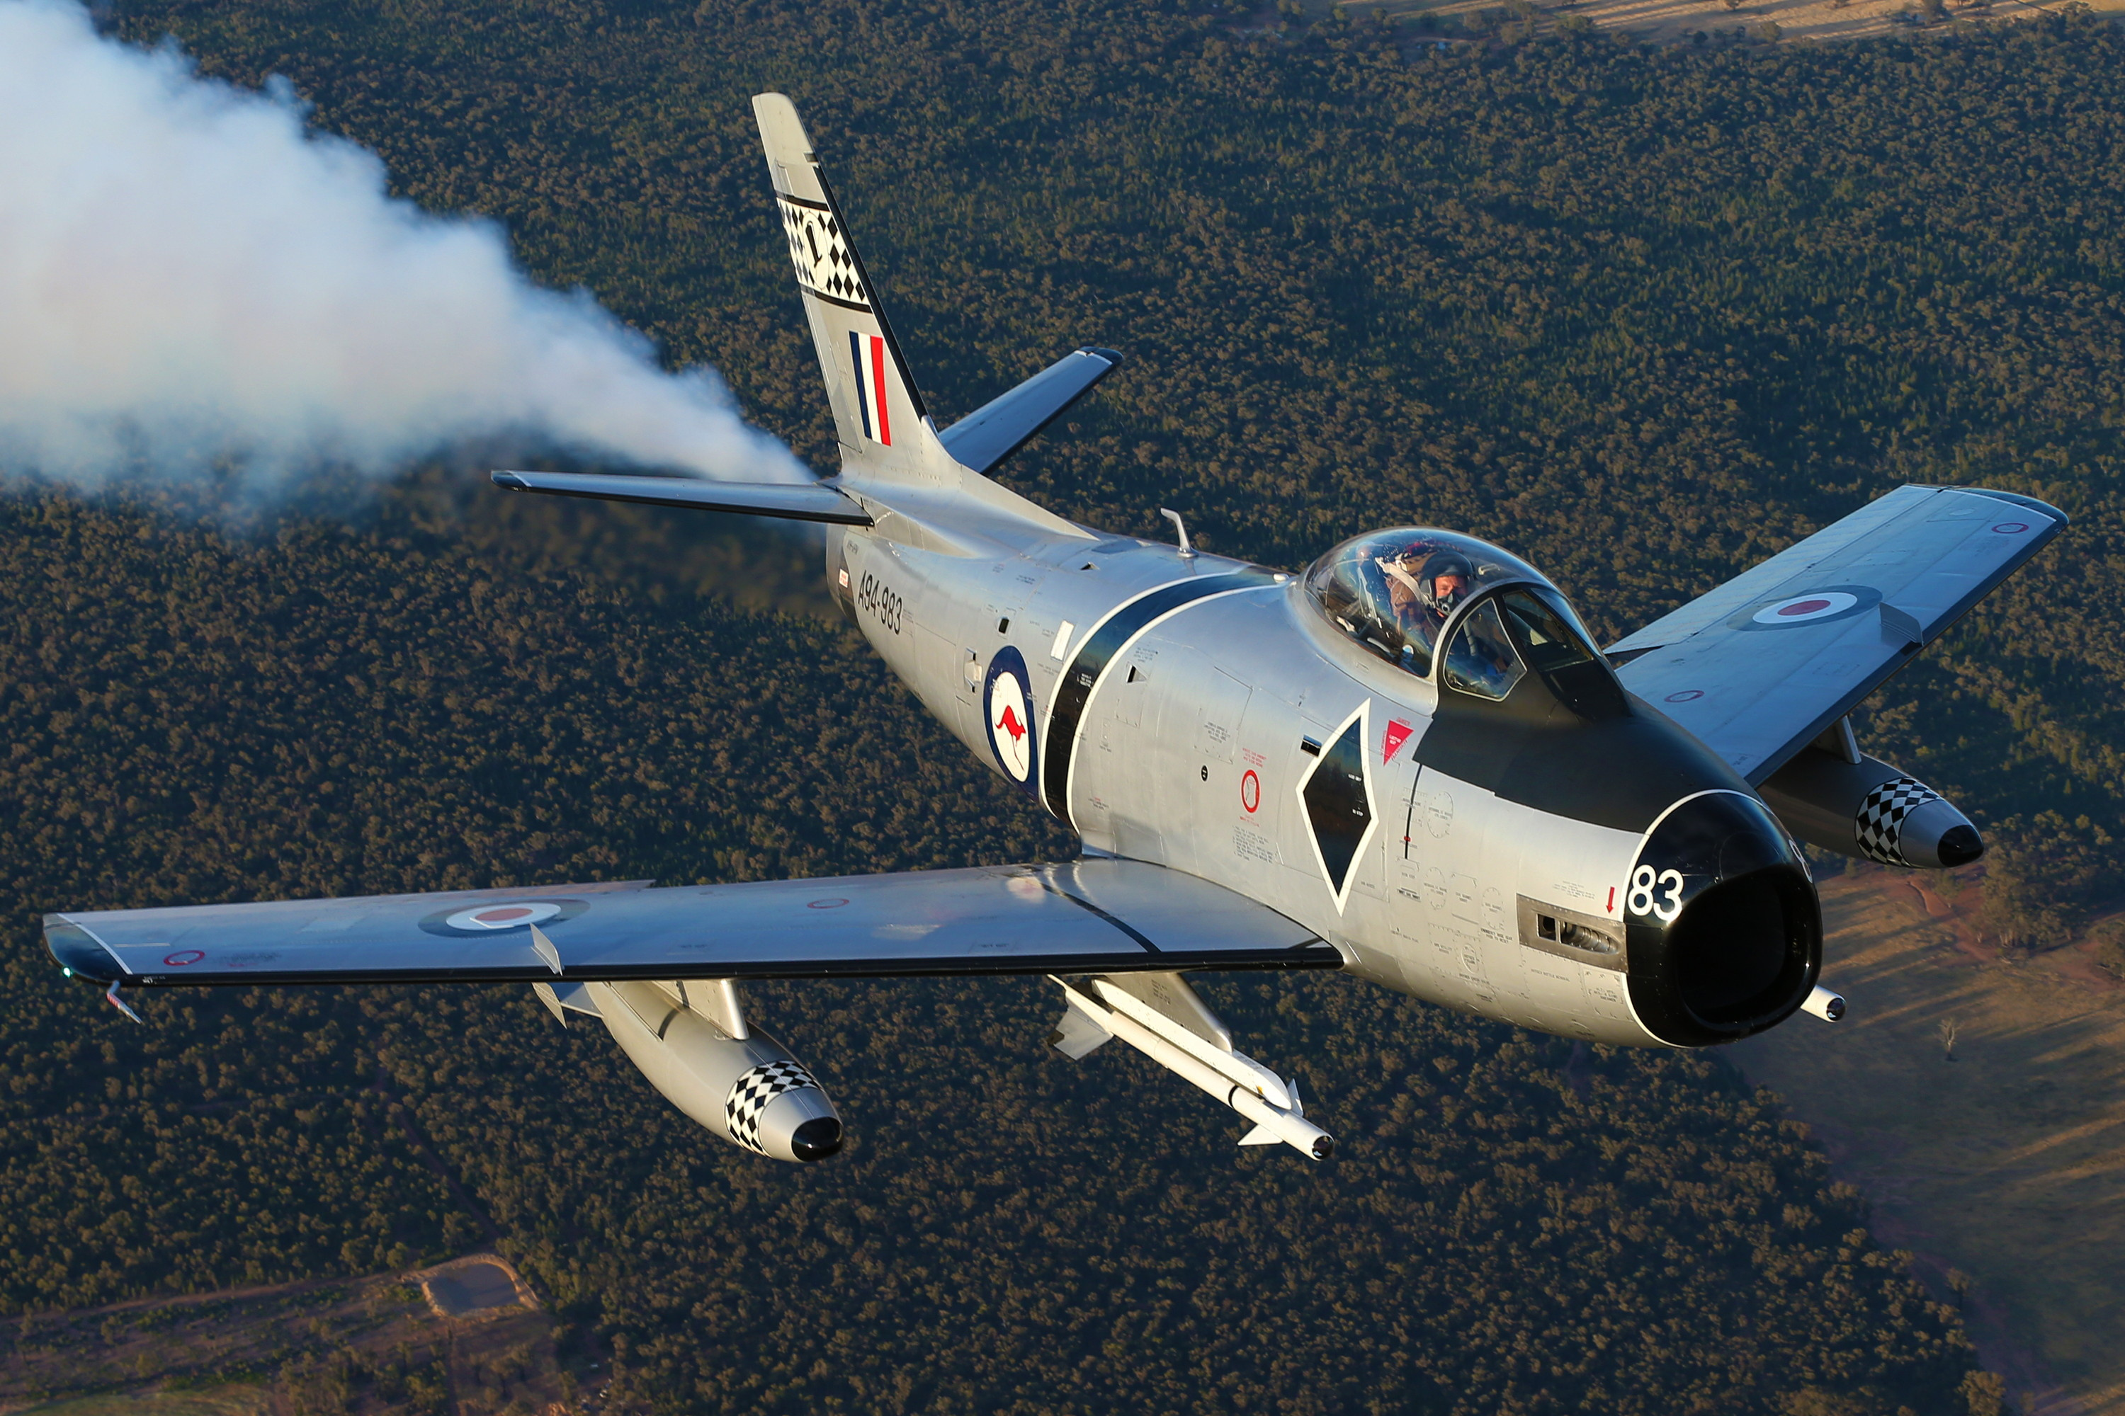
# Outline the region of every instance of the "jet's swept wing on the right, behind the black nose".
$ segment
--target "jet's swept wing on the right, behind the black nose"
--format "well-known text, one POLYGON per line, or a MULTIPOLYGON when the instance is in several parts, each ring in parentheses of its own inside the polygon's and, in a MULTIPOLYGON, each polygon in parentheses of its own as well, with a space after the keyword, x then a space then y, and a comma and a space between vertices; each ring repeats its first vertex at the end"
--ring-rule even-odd
POLYGON ((2032 497, 1900 486, 1619 639, 1609 660, 1755 785, 2063 529, 2032 497))

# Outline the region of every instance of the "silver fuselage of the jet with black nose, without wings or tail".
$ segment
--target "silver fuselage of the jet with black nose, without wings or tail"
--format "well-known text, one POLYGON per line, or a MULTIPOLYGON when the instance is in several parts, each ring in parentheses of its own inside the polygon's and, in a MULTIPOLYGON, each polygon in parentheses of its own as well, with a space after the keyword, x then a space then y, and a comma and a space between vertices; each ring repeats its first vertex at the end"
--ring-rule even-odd
POLYGON ((1798 849, 1606 662, 1609 707, 1532 673, 1488 701, 1368 652, 1303 575, 1135 537, 916 539, 835 529, 835 599, 1090 853, 1247 894, 1386 987, 1596 1042, 1732 1040, 1815 983, 1798 849))

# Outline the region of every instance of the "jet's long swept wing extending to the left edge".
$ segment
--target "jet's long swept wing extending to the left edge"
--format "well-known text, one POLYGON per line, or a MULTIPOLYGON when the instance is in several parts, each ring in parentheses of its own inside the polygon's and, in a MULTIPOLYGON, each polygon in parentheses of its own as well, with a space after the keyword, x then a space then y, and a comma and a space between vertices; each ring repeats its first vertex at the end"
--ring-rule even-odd
POLYGON ((74 972, 128 987, 1341 964, 1284 915, 1135 860, 64 913, 45 938, 74 972))

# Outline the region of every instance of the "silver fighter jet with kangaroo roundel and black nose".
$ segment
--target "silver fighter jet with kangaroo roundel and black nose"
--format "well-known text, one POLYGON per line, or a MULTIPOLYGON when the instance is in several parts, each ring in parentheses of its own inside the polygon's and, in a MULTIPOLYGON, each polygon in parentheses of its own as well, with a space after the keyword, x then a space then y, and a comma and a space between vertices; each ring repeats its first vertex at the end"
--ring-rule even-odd
POLYGON ((1522 1028, 1706 1047, 1808 1008, 1821 911, 1796 841, 1976 860, 1847 713, 2066 526, 1902 486, 1606 652, 1532 565, 1426 526, 1300 573, 1080 526, 992 482, 1120 355, 1080 348, 939 429, 797 110, 754 100, 842 444, 814 486, 499 471, 523 493, 827 524, 827 580, 886 664, 1084 853, 752 885, 548 885, 83 911, 45 921, 121 987, 533 983, 606 1023, 680 1110, 814 1161, 818 1078, 744 979, 1050 974, 1050 1042, 1141 1049, 1326 1155, 1298 1087, 1232 1044, 1196 970, 1341 968, 1522 1028))

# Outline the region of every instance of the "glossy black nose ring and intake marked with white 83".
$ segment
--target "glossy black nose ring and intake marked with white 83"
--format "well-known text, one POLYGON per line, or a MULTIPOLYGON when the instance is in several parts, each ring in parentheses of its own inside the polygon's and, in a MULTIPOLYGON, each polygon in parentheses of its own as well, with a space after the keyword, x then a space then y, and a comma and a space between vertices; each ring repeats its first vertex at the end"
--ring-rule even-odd
POLYGON ((1630 1002, 1664 1042, 1764 1032, 1808 998, 1823 915, 1794 843, 1742 792, 1670 807, 1638 851, 1624 900, 1630 1002))

